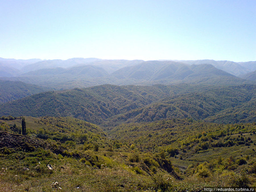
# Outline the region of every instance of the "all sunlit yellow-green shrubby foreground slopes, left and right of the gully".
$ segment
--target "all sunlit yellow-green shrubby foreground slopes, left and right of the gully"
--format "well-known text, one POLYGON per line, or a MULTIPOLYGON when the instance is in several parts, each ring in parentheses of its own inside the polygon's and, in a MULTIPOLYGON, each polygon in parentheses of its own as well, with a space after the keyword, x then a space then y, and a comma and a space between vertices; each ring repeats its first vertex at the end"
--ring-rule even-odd
MULTIPOLYGON (((46 135, 47 142, 66 150, 58 154, 35 148, 30 139, 26 144, 29 147, 23 150, 1 148, 0 166, 7 168, 3 172, 5 177, 0 180, 2 190, 51 191, 52 182, 58 181, 63 191, 200 191, 204 186, 224 182, 224 176, 218 175, 215 167, 226 166, 222 170, 223 174, 228 174, 225 185, 234 186, 237 177, 243 178, 232 171, 233 167, 237 172, 250 171, 255 162, 256 136, 250 134, 256 131, 255 123, 222 125, 172 119, 123 124, 109 132, 112 138, 119 139, 113 141, 98 126, 71 117, 25 119, 27 125, 32 126, 27 126, 30 136, 43 138, 46 135), (80 137, 81 131, 85 137, 80 137), (238 143, 241 137, 249 145, 238 143), (228 140, 234 145, 216 146, 228 140), (208 148, 204 147, 205 143, 208 148), (98 145, 97 150, 94 150, 95 145, 98 145), (247 158, 247 155, 247 164, 236 164, 241 156, 247 158), (220 163, 216 160, 218 156, 221 156, 220 163), (234 162, 228 161, 231 157, 234 162), (49 161, 53 171, 46 168, 49 161), (205 179, 199 176, 201 166, 209 173, 205 179), (179 180, 181 177, 184 179, 179 180)), ((5 123, 19 125, 18 121, 1 120, 4 122, 1 129, 8 128, 5 123)), ((249 181, 254 182, 253 174, 249 175, 249 181)))

